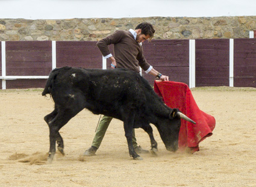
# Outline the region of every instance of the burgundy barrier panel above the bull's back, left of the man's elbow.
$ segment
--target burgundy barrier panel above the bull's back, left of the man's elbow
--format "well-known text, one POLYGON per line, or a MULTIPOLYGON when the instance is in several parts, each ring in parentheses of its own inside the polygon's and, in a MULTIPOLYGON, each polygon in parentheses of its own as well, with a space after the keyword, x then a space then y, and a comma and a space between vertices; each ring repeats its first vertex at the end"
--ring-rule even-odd
POLYGON ((96 41, 57 41, 57 67, 102 69, 102 55, 96 41))

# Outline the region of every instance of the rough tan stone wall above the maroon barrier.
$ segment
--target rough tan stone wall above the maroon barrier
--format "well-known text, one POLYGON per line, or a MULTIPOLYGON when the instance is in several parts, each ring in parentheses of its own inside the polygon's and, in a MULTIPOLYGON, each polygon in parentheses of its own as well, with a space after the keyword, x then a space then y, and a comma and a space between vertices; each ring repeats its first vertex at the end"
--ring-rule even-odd
POLYGON ((249 31, 256 29, 256 16, 0 19, 0 41, 96 41, 141 22, 155 26, 154 39, 248 38, 249 31))

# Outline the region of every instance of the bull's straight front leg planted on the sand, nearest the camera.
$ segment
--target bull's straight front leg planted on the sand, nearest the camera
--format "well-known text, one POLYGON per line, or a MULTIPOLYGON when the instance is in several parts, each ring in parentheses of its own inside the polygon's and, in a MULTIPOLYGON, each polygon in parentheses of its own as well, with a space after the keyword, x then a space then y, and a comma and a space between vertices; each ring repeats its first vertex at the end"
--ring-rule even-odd
POLYGON ((123 127, 125 129, 125 137, 127 139, 127 143, 128 143, 128 149, 129 149, 129 154, 130 156, 133 157, 133 159, 135 160, 142 160, 142 158, 140 157, 140 155, 138 155, 133 147, 133 123, 134 123, 134 114, 129 115, 126 120, 123 120, 123 127))

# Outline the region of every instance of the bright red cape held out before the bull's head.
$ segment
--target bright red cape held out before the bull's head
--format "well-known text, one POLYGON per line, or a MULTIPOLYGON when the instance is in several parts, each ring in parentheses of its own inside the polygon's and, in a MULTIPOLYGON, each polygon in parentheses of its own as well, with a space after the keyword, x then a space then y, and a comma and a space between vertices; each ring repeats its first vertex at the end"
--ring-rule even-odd
POLYGON ((187 84, 173 81, 155 81, 154 91, 163 98, 170 108, 178 108, 196 124, 181 120, 179 133, 179 151, 194 153, 199 151, 199 143, 211 136, 215 127, 215 118, 201 111, 187 84), (189 147, 189 149, 187 149, 189 147))

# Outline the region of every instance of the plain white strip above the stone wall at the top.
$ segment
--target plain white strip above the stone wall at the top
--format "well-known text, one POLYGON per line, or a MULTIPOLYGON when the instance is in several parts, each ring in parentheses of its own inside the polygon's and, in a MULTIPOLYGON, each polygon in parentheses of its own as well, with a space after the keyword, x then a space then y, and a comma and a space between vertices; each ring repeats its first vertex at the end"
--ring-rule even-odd
POLYGON ((255 0, 0 0, 0 19, 256 16, 255 0))

